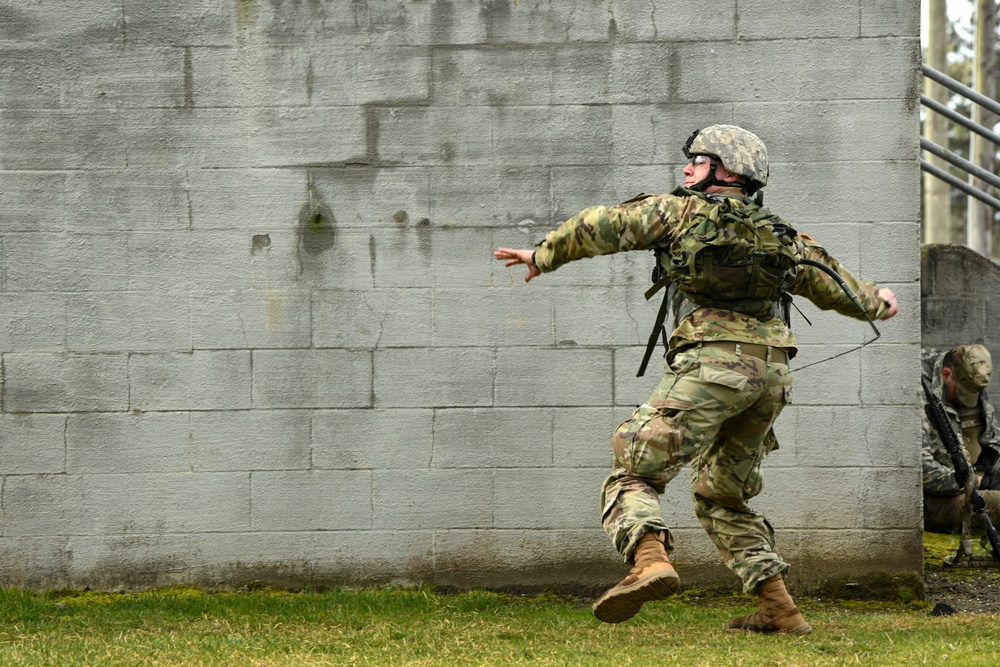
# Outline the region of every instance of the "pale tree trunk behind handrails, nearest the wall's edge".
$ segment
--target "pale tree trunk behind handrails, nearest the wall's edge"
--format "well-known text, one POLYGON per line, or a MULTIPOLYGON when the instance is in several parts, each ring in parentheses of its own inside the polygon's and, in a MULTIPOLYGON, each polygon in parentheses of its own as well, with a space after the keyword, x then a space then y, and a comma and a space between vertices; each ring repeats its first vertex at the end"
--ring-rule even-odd
MULTIPOLYGON (((948 11, 946 0, 929 0, 927 17, 926 62, 939 72, 948 69, 948 11)), ((948 91, 939 83, 924 78, 924 94, 941 104, 948 103, 948 91)), ((938 146, 948 147, 948 121, 933 111, 925 111, 924 136, 938 146)), ((948 163, 925 154, 925 159, 938 169, 947 170, 948 163)), ((951 243, 950 188, 924 174, 924 243, 951 243)))

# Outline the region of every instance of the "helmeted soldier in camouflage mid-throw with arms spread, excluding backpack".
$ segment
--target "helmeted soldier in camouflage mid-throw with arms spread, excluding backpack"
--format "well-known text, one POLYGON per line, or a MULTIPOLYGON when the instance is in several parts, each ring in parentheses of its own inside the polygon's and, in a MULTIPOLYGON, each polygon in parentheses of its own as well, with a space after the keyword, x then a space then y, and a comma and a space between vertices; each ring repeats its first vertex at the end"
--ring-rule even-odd
MULTIPOLYGON (((659 249, 668 261, 677 259, 686 223, 749 210, 750 195, 768 175, 763 142, 740 127, 696 131, 685 155, 691 161, 684 168, 684 188, 612 208, 588 208, 549 232, 534 251, 500 248, 495 257, 506 266, 526 265, 526 281, 567 262, 628 250, 659 249)), ((809 236, 794 237, 794 252, 839 273, 871 318, 896 313, 891 290, 857 280, 809 236)), ((797 267, 787 291, 820 308, 863 317, 816 268, 797 267)), ((771 426, 792 393, 788 360, 796 352, 795 338, 767 305, 766 313, 756 315, 722 307, 684 313, 670 336, 663 380, 614 433, 612 471, 601 490, 602 519, 615 548, 634 567, 595 603, 598 619, 625 621, 645 602, 679 590, 667 556, 673 537, 659 496, 690 463, 698 519, 744 590, 756 592, 760 602, 759 612, 727 627, 811 630, 785 589, 788 564, 775 553, 770 524, 747 505, 762 488, 761 461, 777 447, 771 426)))

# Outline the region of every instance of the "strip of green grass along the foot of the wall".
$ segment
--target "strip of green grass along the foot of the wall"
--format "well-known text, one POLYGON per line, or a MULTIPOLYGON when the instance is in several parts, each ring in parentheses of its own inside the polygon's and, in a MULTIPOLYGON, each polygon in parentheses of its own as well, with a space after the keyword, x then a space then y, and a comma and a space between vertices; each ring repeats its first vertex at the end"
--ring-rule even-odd
POLYGON ((799 600, 808 637, 731 633, 747 597, 682 595, 599 623, 589 601, 428 588, 0 591, 8 665, 994 665, 1000 617, 799 600), (947 656, 947 657, 945 657, 947 656))

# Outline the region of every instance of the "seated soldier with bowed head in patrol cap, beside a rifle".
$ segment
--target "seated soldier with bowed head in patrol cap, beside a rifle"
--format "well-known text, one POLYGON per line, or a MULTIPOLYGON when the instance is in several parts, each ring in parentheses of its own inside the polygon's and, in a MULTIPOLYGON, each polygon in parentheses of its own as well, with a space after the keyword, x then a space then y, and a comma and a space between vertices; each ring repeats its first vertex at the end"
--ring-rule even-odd
MULTIPOLYGON (((982 345, 923 353, 923 373, 931 389, 941 397, 951 427, 965 447, 966 459, 975 469, 972 483, 980 490, 990 521, 996 526, 1000 525, 1000 430, 986 392, 992 372, 990 352, 982 345)), ((951 456, 926 412, 921 463, 924 529, 936 533, 960 531, 970 515, 966 490, 955 480, 951 456)))

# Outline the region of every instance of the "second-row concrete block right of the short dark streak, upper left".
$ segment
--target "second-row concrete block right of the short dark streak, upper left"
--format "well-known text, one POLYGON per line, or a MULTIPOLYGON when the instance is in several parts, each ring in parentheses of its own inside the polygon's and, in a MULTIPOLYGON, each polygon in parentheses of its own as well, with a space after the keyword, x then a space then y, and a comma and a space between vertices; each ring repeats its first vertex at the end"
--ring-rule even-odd
POLYGON ((311 54, 301 45, 188 49, 190 104, 301 107, 309 104, 311 54))

